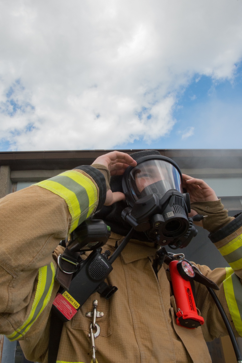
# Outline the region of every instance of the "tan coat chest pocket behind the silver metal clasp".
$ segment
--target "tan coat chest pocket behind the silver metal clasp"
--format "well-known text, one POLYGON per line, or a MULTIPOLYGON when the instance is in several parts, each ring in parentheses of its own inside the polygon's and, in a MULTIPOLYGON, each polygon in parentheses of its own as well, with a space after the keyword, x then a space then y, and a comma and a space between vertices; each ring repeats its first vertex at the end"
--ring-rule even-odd
POLYGON ((112 334, 111 331, 111 300, 104 299, 98 293, 95 293, 90 296, 89 299, 82 305, 82 307, 77 311, 77 314, 74 315, 71 328, 72 329, 81 329, 86 330, 89 333, 90 323, 92 322, 92 318, 87 318, 86 313, 88 311, 93 311, 93 301, 98 301, 97 310, 103 312, 102 318, 97 318, 96 322, 100 326, 100 335, 101 337, 109 337, 112 334))

